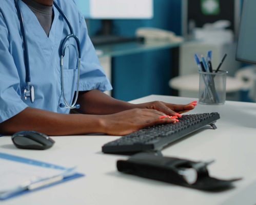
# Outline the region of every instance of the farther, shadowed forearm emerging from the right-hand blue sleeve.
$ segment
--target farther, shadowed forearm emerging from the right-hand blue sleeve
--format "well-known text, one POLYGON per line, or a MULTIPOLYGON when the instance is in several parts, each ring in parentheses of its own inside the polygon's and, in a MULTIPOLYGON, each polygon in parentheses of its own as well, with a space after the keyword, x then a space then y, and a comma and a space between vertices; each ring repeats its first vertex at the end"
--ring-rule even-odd
POLYGON ((114 99, 99 90, 81 93, 77 103, 81 106, 78 112, 96 115, 113 114, 137 107, 134 104, 114 99))

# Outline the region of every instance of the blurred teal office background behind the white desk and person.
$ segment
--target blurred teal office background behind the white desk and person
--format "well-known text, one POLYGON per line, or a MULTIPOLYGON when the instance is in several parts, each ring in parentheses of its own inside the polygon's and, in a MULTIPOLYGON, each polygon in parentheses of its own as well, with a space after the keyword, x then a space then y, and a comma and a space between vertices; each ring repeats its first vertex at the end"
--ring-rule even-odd
POLYGON ((75 0, 111 80, 109 95, 198 97, 194 54, 228 71, 227 99, 255 101, 254 66, 235 60, 242 0, 75 0))

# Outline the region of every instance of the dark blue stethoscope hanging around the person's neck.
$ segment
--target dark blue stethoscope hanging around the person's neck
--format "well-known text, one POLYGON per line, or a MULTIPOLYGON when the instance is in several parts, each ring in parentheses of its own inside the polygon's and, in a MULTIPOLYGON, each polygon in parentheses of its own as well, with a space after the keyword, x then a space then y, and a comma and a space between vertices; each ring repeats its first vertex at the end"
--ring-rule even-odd
MULTIPOLYGON (((31 85, 31 81, 30 81, 30 67, 29 67, 29 55, 28 55, 28 44, 27 44, 27 37, 26 37, 26 31, 25 31, 25 25, 24 25, 24 20, 23 20, 23 14, 22 14, 22 10, 21 10, 21 5, 19 4, 19 0, 14 0, 15 2, 15 6, 17 9, 17 13, 18 13, 18 18, 19 18, 19 23, 21 24, 21 32, 22 32, 22 39, 23 39, 23 46, 24 46, 24 63, 25 63, 25 69, 26 69, 26 84, 27 86, 24 89, 24 98, 25 100, 27 100, 27 98, 30 98, 31 103, 34 103, 35 100, 35 89, 34 86, 31 85)), ((81 46, 80 46, 80 40, 78 39, 78 37, 76 35, 74 35, 74 31, 73 28, 67 18, 67 16, 63 13, 63 11, 61 10, 61 8, 55 3, 53 2, 53 5, 56 7, 56 9, 58 10, 58 12, 60 12, 60 14, 62 15, 62 17, 65 19, 69 30, 70 30, 70 34, 67 35, 62 43, 61 43, 61 49, 60 49, 60 55, 61 55, 61 87, 62 87, 62 96, 64 99, 64 103, 60 104, 61 108, 69 108, 69 109, 79 109, 80 105, 76 104, 77 98, 78 98, 78 91, 79 91, 79 80, 80 80, 80 67, 81 67, 81 46), (76 47, 77 47, 77 88, 76 88, 76 95, 75 95, 75 99, 74 102, 72 103, 72 105, 69 105, 66 97, 65 97, 65 92, 64 92, 64 56, 65 56, 65 51, 67 48, 69 48, 69 45, 66 45, 67 41, 70 38, 74 38, 75 42, 76 42, 76 47)))

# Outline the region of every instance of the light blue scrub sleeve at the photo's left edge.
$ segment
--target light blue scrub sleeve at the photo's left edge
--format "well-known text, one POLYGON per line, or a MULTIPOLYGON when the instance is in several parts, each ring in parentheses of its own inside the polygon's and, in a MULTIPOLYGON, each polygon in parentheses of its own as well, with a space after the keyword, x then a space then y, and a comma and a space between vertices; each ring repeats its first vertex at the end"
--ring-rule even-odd
POLYGON ((19 76, 9 52, 8 28, 0 10, 0 123, 28 107, 21 97, 19 76))

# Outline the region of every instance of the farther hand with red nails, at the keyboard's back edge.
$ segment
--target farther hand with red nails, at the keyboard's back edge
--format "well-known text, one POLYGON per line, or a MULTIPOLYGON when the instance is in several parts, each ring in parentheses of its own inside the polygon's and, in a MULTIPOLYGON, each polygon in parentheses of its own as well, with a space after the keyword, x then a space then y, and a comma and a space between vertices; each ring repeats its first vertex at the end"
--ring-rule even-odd
POLYGON ((139 104, 140 108, 154 109, 163 112, 170 116, 181 117, 182 113, 193 110, 197 106, 197 101, 192 101, 187 105, 176 105, 170 103, 164 103, 162 101, 153 101, 149 103, 139 104))

